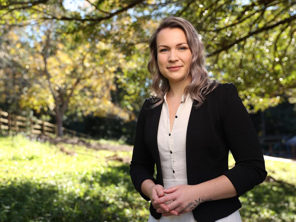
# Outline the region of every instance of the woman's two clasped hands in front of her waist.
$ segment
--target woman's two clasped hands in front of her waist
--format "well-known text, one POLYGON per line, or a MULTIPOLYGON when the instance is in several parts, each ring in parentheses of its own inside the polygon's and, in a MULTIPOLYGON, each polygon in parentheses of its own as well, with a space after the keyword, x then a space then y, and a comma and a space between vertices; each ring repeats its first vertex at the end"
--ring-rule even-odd
POLYGON ((150 193, 152 206, 163 216, 180 216, 181 213, 189 212, 199 204, 194 200, 194 197, 197 197, 196 185, 177 185, 164 189, 157 184, 152 187, 150 193), (171 202, 166 205, 165 202, 169 201, 171 202))

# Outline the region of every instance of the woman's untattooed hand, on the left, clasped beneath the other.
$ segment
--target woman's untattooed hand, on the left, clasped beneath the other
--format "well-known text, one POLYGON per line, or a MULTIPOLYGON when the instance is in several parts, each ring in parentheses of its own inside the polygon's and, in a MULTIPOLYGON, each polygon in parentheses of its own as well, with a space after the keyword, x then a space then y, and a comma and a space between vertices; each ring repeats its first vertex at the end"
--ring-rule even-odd
POLYGON ((152 206, 154 207, 157 213, 165 213, 163 214, 163 216, 172 216, 172 215, 180 216, 180 213, 178 213, 176 210, 168 211, 169 209, 164 203, 161 203, 161 204, 153 203, 158 198, 164 196, 163 189, 164 189, 163 186, 161 186, 160 184, 156 184, 151 187, 149 193, 150 193, 150 200, 151 200, 152 206))

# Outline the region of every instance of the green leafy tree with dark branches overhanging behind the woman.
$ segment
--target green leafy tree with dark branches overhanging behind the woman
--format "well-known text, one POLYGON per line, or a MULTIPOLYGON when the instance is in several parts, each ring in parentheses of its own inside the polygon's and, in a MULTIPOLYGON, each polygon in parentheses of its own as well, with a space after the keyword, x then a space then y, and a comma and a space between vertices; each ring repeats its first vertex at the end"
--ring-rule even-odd
MULTIPOLYGON (((102 57, 122 55, 111 75, 112 102, 137 112, 149 92, 147 41, 156 20, 181 16, 206 44, 211 78, 234 82, 249 112, 296 102, 296 1, 2 1, 1 23, 28 27, 58 23, 73 45, 104 43, 102 57), (75 43, 75 44, 74 44, 75 43)), ((42 27, 42 26, 40 26, 42 27)), ((64 43, 63 43, 64 44, 64 43)), ((67 46, 67 44, 64 44, 67 46)), ((92 51, 89 55, 94 57, 92 51)), ((116 59, 115 59, 116 60, 116 59)), ((62 84, 61 84, 62 85, 62 84)))

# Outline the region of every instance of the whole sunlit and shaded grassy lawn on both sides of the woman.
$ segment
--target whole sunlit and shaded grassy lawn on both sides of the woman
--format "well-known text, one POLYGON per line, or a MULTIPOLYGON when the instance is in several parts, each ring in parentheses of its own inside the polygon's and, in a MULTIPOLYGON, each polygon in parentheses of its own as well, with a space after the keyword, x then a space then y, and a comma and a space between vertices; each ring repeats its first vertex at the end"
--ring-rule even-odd
MULTIPOLYGON (((0 221, 147 221, 131 151, 62 147, 0 137, 0 221)), ((242 221, 295 222, 296 164, 266 160, 266 169, 269 180, 240 197, 242 221)))

